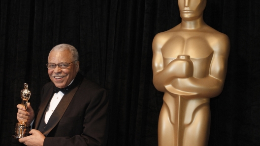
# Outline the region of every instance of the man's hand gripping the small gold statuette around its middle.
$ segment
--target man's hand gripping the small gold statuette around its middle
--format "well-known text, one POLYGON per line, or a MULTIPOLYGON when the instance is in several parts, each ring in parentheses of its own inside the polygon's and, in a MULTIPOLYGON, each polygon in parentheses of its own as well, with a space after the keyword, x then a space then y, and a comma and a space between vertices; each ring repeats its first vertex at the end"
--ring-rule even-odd
POLYGON ((27 124, 31 124, 34 119, 34 111, 32 109, 31 103, 28 103, 27 111, 25 111, 25 107, 22 104, 18 104, 17 108, 17 120, 19 122, 27 122, 27 124))

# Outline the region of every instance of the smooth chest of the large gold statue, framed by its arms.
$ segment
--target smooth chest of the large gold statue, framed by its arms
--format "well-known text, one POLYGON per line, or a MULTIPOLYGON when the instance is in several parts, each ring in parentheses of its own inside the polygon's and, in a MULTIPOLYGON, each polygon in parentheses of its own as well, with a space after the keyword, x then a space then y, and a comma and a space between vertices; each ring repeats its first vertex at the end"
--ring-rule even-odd
POLYGON ((189 55, 194 65, 196 78, 203 78, 209 74, 213 49, 201 32, 174 32, 173 35, 166 34, 165 43, 162 46, 163 67, 166 67, 178 55, 189 55))

